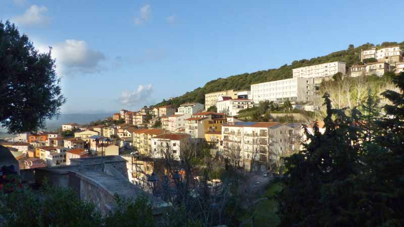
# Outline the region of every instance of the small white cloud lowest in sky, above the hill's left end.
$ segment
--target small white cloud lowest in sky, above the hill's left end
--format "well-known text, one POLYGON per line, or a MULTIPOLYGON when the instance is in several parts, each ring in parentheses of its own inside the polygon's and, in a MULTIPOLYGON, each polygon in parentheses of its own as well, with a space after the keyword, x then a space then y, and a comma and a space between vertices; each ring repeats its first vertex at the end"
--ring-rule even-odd
POLYGON ((139 85, 136 91, 122 91, 122 95, 119 100, 123 105, 141 106, 144 104, 148 104, 152 92, 153 87, 151 86, 151 84, 146 86, 139 85))

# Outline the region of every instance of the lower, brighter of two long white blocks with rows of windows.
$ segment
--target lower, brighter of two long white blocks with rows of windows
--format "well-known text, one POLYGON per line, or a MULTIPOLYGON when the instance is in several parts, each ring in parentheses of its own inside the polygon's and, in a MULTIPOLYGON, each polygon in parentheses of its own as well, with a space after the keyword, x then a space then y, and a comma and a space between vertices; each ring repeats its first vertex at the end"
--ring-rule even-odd
POLYGON ((251 97, 254 103, 260 101, 282 102, 309 101, 315 92, 314 78, 291 78, 260 84, 251 84, 251 97))

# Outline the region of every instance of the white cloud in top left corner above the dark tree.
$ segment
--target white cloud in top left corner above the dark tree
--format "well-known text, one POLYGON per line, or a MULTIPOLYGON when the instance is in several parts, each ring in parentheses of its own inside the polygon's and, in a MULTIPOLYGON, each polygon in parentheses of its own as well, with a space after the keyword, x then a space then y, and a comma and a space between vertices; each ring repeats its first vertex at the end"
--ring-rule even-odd
POLYGON ((32 5, 23 15, 15 16, 11 20, 20 25, 48 24, 50 19, 44 15, 46 12, 46 7, 32 5))

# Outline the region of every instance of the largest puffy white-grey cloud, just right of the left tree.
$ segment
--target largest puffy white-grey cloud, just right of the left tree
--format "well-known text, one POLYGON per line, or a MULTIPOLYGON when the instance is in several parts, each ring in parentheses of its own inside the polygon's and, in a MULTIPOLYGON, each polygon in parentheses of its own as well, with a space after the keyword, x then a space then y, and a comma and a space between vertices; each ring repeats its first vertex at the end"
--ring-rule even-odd
MULTIPOLYGON (((40 52, 48 51, 48 47, 43 44, 35 46, 40 52)), ((53 45, 52 57, 56 59, 56 71, 61 76, 75 72, 100 72, 104 69, 100 63, 106 60, 102 52, 89 48, 85 41, 75 39, 53 45)))

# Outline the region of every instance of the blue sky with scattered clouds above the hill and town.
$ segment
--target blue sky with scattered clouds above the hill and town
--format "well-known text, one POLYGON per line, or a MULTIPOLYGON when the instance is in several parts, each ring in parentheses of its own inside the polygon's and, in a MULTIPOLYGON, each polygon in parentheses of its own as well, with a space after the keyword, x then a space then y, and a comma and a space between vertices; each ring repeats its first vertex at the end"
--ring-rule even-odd
POLYGON ((0 2, 0 19, 53 46, 64 113, 136 110, 219 77, 404 37, 402 1, 0 2))

